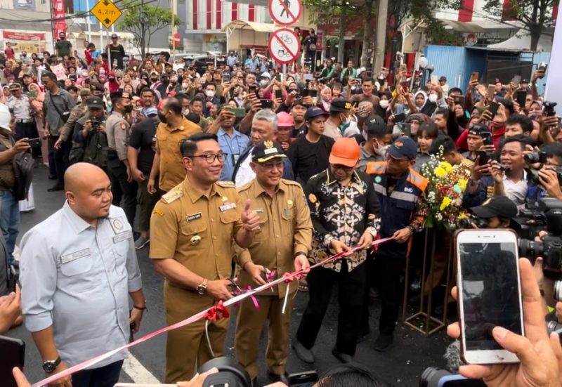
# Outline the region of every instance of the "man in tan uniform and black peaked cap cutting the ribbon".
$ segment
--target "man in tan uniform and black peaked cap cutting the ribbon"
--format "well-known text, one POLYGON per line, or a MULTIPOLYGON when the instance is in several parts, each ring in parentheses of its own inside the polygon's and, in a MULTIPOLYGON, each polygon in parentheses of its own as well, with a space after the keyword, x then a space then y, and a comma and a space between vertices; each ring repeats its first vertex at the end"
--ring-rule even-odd
MULTIPOLYGON (((306 256, 312 243, 311 215, 301 185, 281 178, 285 157, 280 143, 271 140, 254 147, 250 166, 256 178, 238 189, 242 202, 250 199, 260 216, 260 230, 254 242, 248 249, 237 249, 237 263, 242 268, 238 284, 242 288, 265 284, 264 273, 273 270, 278 278, 310 266, 306 256)), ((243 300, 237 309, 236 358, 252 379, 258 374, 261 328, 269 320, 268 376, 289 384, 285 367, 296 282, 282 282, 273 291, 257 295, 257 310, 250 299, 243 300), (287 287, 289 294, 283 314, 287 287)))

